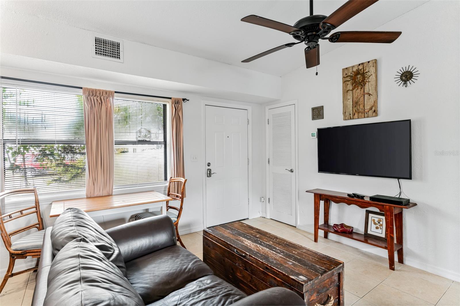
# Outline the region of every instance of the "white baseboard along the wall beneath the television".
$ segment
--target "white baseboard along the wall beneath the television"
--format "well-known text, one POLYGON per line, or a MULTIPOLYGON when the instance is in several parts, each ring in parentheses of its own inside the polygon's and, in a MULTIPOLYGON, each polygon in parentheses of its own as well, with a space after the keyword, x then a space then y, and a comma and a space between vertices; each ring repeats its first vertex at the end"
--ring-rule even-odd
MULTIPOLYGON (((298 228, 303 230, 303 231, 306 231, 306 232, 311 232, 311 233, 313 232, 313 227, 311 227, 311 226, 301 225, 298 228)), ((320 232, 322 233, 321 230, 320 230, 320 232)), ((350 245, 352 247, 355 247, 357 249, 361 249, 363 251, 372 253, 374 255, 379 255, 379 256, 382 256, 382 257, 385 257, 385 258, 387 258, 387 256, 388 256, 388 253, 387 253, 387 251, 385 249, 375 248, 373 246, 370 246, 368 244, 363 244, 363 243, 357 242, 355 240, 351 240, 351 239, 348 239, 348 238, 342 238, 342 237, 340 237, 338 235, 334 235, 334 234, 329 235, 328 239, 340 242, 342 244, 350 245)), ((321 253, 321 250, 319 252, 321 253)), ((404 256, 404 264, 408 265, 408 266, 413 266, 414 268, 417 268, 417 269, 420 269, 420 270, 423 270, 423 271, 426 271, 426 272, 430 272, 430 273, 442 276, 443 278, 449 278, 449 279, 452 279, 452 280, 454 280, 456 282, 460 282, 460 273, 459 272, 447 270, 447 269, 444 269, 444 268, 441 268, 441 267, 438 267, 438 266, 433 266, 433 265, 427 264, 425 262, 422 262, 422 261, 419 261, 419 260, 416 260, 416 259, 413 259, 413 258, 410 258, 410 257, 407 257, 407 256, 404 256)))

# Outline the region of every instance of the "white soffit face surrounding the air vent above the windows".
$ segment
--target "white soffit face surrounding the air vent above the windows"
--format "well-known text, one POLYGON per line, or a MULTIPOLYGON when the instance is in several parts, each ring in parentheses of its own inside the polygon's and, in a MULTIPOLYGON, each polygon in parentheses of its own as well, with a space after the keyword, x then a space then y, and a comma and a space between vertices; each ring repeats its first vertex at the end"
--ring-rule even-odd
MULTIPOLYGON (((123 63, 93 58, 92 34, 93 32, 82 28, 58 24, 21 12, 8 9, 0 11, 2 55, 150 78, 151 84, 162 84, 162 87, 156 87, 163 89, 165 85, 178 87, 182 84, 182 88, 189 92, 193 88, 195 91, 207 93, 203 94, 205 96, 231 97, 234 100, 242 100, 236 98, 238 95, 253 96, 263 98, 261 101, 265 100, 264 102, 279 99, 281 96, 281 83, 277 76, 194 57, 185 54, 186 50, 180 53, 124 40, 123 63)), ((33 68, 28 69, 37 70, 36 64, 35 62, 33 68)))

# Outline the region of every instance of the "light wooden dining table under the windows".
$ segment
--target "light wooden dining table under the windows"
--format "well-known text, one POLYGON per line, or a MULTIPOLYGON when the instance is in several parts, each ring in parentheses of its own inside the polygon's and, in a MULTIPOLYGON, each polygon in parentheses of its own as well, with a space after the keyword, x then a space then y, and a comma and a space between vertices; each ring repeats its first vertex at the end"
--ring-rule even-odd
POLYGON ((158 207, 161 207, 161 214, 165 215, 166 202, 171 200, 173 199, 156 191, 59 200, 51 203, 50 217, 59 216, 69 207, 79 208, 91 217, 158 207))

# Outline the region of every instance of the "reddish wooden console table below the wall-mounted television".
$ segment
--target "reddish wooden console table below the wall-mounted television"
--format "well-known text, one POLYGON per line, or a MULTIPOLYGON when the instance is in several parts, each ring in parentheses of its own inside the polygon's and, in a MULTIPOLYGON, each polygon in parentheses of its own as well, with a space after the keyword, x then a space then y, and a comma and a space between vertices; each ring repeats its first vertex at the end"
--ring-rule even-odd
POLYGON ((350 198, 346 193, 338 191, 324 190, 324 189, 311 189, 307 193, 313 193, 315 196, 315 229, 314 238, 318 242, 318 230, 324 231, 324 238, 328 238, 328 233, 357 240, 359 242, 370 244, 378 248, 388 250, 388 263, 391 270, 395 270, 395 251, 398 252, 398 262, 403 264, 403 210, 416 206, 416 203, 409 203, 404 206, 385 204, 369 200, 369 197, 350 198), (320 201, 324 202, 324 223, 319 224, 319 206, 320 201), (360 208, 375 207, 381 212, 385 213, 386 223, 386 242, 376 238, 364 236, 363 234, 353 232, 345 234, 335 232, 331 225, 329 225, 329 207, 330 201, 334 203, 345 203, 347 205, 357 205, 360 208), (396 229, 396 243, 395 243, 395 229, 396 229))

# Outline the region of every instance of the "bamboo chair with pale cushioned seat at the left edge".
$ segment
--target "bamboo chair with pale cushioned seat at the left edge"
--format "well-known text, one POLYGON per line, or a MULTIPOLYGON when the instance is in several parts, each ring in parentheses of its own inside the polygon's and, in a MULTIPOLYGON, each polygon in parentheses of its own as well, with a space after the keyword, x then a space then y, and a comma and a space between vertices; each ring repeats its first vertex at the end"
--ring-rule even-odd
MULTIPOLYGON (((3 281, 0 284, 0 293, 2 292, 9 278, 12 278, 13 276, 16 276, 18 274, 37 270, 38 263, 40 261, 41 244, 43 243, 43 235, 45 231, 43 230, 43 220, 41 219, 41 215, 40 215, 40 204, 38 201, 37 188, 23 188, 23 189, 5 191, 3 193, 0 193, 0 200, 8 196, 23 194, 23 193, 34 193, 35 205, 20 209, 20 210, 15 210, 11 213, 7 213, 7 214, 0 216, 0 235, 3 240, 3 243, 5 244, 6 249, 10 253, 10 262, 8 265, 8 269, 6 270, 5 277, 3 278, 3 281), (37 222, 27 225, 25 227, 21 227, 12 232, 6 231, 5 223, 11 222, 19 218, 22 218, 26 215, 32 215, 32 214, 37 214, 37 222), (16 216, 13 216, 13 215, 16 215, 16 216), (12 236, 17 235, 21 232, 28 231, 33 228, 38 229, 39 232, 30 233, 29 235, 23 238, 20 238, 16 240, 15 242, 11 243, 12 236), (37 258, 37 263, 35 267, 13 273, 13 267, 14 267, 15 261, 17 259, 25 259, 28 256, 32 256, 32 258, 37 258)), ((0 210, 0 214, 1 214, 1 210, 0 210)))

